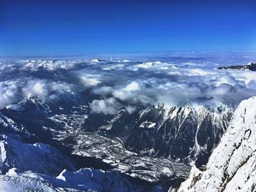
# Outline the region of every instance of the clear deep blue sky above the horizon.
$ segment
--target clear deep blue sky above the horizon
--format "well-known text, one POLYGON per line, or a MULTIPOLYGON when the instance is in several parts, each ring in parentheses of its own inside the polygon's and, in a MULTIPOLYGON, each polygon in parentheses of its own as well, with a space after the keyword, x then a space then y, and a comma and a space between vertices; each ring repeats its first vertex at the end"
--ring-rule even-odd
POLYGON ((256 50, 256 1, 0 0, 0 55, 256 50))

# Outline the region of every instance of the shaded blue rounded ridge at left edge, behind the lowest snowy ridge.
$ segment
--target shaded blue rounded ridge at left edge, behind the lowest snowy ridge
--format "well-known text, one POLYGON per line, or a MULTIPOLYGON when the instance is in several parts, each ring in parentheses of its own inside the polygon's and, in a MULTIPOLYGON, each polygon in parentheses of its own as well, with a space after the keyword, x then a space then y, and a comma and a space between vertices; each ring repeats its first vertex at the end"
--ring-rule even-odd
POLYGON ((63 169, 75 170, 75 166, 53 147, 42 143, 26 144, 0 135, 0 171, 16 168, 58 175, 63 169))

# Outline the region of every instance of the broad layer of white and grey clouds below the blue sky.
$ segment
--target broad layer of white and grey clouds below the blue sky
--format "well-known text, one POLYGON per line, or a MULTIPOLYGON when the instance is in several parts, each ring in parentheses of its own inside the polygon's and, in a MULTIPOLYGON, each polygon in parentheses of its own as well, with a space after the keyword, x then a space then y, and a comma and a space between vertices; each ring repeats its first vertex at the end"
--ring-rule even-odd
MULTIPOLYGON (((239 64, 246 64, 247 58, 244 55, 244 63, 239 64)), ((105 115, 115 114, 121 105, 132 112, 131 106, 156 103, 238 104, 256 95, 256 73, 216 69, 228 62, 234 65, 235 61, 236 55, 225 59, 220 59, 220 55, 158 57, 151 61, 108 58, 97 64, 91 59, 4 61, 0 64, 0 107, 33 95, 46 101, 58 99, 60 93, 85 90, 102 97, 92 99, 90 107, 92 112, 105 115)), ((243 61, 241 54, 238 61, 243 61)))

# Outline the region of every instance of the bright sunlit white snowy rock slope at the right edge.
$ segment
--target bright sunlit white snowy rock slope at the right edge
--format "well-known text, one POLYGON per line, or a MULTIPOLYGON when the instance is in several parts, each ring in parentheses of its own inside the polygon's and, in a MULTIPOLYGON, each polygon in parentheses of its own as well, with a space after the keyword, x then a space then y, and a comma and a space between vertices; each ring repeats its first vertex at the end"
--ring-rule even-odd
POLYGON ((195 166, 178 191, 256 190, 256 97, 241 101, 205 171, 195 166))

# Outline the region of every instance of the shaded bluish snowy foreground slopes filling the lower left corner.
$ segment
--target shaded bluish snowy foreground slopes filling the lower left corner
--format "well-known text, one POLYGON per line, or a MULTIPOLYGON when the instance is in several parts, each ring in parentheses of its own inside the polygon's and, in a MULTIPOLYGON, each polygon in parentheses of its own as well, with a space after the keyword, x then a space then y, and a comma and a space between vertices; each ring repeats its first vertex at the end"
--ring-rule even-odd
POLYGON ((0 134, 0 192, 162 191, 118 172, 76 169, 72 163, 50 145, 27 144, 0 134))

